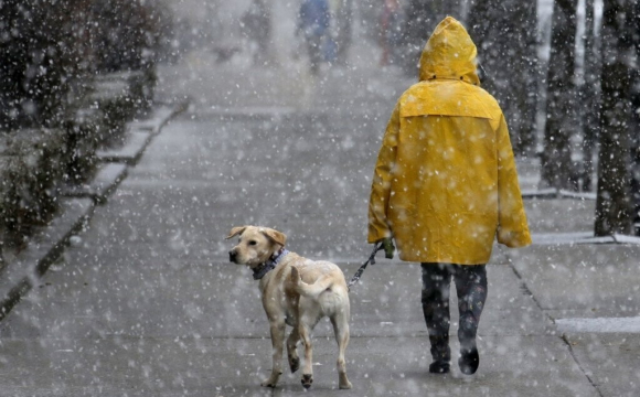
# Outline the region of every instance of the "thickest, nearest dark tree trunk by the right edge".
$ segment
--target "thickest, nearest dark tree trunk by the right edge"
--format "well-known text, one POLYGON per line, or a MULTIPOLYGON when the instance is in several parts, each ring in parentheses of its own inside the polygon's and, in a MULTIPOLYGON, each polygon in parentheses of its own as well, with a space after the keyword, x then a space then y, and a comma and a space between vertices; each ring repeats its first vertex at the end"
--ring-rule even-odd
POLYGON ((605 1, 596 236, 630 234, 632 1, 605 1))

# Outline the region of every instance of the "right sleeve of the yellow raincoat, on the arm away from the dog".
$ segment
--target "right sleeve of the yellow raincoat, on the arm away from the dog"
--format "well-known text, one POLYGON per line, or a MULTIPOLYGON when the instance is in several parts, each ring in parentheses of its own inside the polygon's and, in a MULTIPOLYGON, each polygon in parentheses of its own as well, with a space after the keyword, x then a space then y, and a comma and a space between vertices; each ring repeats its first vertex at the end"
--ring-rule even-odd
POLYGON ((497 131, 498 142, 498 243, 511 248, 526 247, 531 234, 522 204, 518 171, 509 130, 501 116, 497 131))

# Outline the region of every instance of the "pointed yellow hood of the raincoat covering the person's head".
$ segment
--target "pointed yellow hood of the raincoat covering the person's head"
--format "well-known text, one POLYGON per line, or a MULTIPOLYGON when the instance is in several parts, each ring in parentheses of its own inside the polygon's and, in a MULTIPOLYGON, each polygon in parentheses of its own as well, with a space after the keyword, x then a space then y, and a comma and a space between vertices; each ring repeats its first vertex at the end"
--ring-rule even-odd
POLYGON ((420 56, 419 79, 458 79, 480 85, 476 73, 476 44, 455 18, 445 18, 436 28, 420 56))

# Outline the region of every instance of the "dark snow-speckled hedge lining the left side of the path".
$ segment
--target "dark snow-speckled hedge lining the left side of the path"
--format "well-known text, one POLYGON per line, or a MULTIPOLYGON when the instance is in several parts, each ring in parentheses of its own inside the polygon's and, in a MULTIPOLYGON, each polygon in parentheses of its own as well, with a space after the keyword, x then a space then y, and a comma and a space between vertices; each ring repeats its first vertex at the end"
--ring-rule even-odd
POLYGON ((161 1, 2 0, 0 26, 1 261, 149 108, 171 20, 161 1))

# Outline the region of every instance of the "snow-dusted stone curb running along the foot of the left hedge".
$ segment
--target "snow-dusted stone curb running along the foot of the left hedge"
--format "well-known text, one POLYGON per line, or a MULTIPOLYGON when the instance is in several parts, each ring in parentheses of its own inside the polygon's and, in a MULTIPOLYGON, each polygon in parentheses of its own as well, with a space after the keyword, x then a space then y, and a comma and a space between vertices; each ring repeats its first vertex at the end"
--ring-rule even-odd
POLYGON ((151 111, 151 119, 128 125, 129 144, 119 150, 98 153, 102 161, 94 180, 87 185, 63 191, 61 212, 46 227, 39 229, 29 246, 11 262, 0 264, 0 321, 38 285, 40 278, 55 262, 73 235, 82 232, 90 221, 96 205, 105 204, 108 196, 127 176, 128 167, 135 165, 153 136, 174 116, 184 111, 188 101, 161 105, 151 111), (142 130, 142 135, 136 132, 142 130), (129 137, 129 138, 130 138, 129 137), (143 143, 143 144, 141 144, 143 143), (103 154, 100 157, 100 154, 103 154))

